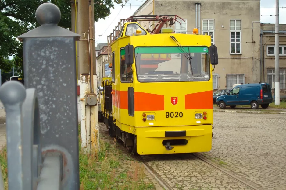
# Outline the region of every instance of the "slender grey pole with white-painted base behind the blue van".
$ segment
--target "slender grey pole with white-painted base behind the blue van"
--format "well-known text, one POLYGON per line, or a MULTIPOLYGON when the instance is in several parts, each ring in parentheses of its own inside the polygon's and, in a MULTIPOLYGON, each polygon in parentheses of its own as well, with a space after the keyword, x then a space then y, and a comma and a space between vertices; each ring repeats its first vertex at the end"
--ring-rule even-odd
POLYGON ((275 105, 280 104, 280 77, 279 77, 279 0, 276 0, 275 14, 275 105))

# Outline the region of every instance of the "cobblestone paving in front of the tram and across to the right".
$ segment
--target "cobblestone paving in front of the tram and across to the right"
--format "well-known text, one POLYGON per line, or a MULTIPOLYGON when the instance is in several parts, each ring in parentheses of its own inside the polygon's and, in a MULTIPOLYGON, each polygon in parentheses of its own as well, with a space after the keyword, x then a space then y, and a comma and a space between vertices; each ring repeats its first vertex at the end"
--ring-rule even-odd
MULTIPOLYGON (((286 189, 285 124, 285 115, 214 112, 213 148, 198 155, 259 189, 286 189)), ((173 189, 249 189, 191 154, 143 158, 173 189)))

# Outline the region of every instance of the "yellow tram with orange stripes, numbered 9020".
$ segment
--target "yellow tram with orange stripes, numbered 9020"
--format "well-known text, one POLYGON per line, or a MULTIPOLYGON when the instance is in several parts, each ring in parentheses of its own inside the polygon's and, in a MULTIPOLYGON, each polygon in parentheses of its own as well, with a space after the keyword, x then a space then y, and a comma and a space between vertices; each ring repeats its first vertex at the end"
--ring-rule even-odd
POLYGON ((163 28, 176 17, 154 16, 159 22, 151 34, 136 22, 144 18, 130 17, 118 36, 110 38, 112 77, 102 81, 99 119, 132 154, 206 152, 212 147, 216 46, 197 29, 180 34, 163 28))

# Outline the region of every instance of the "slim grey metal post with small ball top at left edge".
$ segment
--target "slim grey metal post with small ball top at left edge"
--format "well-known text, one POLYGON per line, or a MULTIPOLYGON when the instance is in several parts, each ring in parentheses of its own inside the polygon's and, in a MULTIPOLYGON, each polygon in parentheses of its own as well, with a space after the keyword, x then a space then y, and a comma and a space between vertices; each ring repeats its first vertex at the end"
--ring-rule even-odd
POLYGON ((25 88, 18 81, 5 82, 0 88, 0 100, 6 111, 9 189, 23 189, 23 143, 21 138, 23 116, 21 112, 25 98, 25 88))

